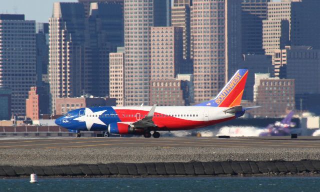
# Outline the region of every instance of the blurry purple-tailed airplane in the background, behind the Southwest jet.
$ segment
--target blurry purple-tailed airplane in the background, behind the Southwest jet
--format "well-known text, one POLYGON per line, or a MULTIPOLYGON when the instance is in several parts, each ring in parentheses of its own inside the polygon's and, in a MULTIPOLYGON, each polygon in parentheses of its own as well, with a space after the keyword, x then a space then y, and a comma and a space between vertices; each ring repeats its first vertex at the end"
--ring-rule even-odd
POLYGON ((290 111, 282 121, 277 121, 266 127, 266 131, 259 134, 259 136, 288 136, 291 133, 290 128, 294 128, 296 124, 291 122, 294 111, 290 111))

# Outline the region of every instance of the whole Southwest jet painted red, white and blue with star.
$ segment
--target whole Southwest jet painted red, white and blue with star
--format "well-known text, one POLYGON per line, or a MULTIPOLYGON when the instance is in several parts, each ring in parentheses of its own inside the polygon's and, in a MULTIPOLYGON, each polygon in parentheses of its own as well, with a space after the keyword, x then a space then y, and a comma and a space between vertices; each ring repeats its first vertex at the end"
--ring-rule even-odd
POLYGON ((220 93, 210 101, 194 106, 90 107, 70 111, 55 123, 70 132, 105 131, 109 134, 134 134, 159 138, 157 131, 202 128, 241 117, 255 107, 240 106, 248 70, 239 69, 220 93))

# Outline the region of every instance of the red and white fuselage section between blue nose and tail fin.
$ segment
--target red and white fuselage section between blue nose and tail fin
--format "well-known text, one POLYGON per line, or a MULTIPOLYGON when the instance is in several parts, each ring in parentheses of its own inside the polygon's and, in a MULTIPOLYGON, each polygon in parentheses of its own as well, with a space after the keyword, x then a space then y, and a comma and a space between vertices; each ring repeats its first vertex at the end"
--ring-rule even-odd
MULTIPOLYGON (((144 118, 152 107, 112 107, 121 123, 131 123, 144 118)), ((225 107, 155 107, 152 121, 157 130, 177 131, 214 125, 235 119, 235 114, 225 113, 225 107)))

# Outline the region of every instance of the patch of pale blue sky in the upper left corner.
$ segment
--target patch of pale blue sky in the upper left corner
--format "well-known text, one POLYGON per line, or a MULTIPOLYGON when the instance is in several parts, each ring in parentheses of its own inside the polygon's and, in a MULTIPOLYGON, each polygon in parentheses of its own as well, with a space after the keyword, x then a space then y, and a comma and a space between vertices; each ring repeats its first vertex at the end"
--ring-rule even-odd
POLYGON ((48 22, 53 2, 77 2, 77 0, 0 0, 0 13, 24 14, 26 20, 48 22))

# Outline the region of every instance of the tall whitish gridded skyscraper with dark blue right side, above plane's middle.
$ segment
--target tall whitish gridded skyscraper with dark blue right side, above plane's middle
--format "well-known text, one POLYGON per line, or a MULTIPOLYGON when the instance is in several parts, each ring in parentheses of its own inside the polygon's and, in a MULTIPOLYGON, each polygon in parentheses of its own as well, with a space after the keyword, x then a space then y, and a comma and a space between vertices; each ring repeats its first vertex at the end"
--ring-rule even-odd
POLYGON ((150 27, 167 25, 167 0, 124 0, 125 105, 148 105, 150 27), (156 4, 156 6, 155 6, 156 4))

